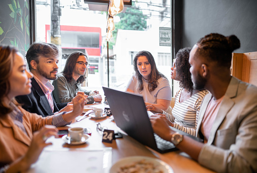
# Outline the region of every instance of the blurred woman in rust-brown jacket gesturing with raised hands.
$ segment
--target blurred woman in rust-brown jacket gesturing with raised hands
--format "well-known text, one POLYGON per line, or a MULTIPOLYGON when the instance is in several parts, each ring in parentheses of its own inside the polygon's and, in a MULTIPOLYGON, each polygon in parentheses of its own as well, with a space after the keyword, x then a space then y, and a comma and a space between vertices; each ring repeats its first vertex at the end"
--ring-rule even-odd
POLYGON ((83 112, 86 96, 73 99, 73 111, 43 118, 22 109, 15 96, 29 94, 33 75, 17 49, 0 45, 0 172, 20 172, 37 161, 55 126, 63 126, 83 112))

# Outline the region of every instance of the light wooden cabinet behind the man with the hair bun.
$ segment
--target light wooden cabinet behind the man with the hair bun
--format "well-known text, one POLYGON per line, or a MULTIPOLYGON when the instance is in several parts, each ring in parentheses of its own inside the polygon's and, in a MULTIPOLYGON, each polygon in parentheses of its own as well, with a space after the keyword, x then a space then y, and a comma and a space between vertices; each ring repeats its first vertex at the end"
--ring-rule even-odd
POLYGON ((257 86, 257 52, 233 53, 231 75, 257 86))

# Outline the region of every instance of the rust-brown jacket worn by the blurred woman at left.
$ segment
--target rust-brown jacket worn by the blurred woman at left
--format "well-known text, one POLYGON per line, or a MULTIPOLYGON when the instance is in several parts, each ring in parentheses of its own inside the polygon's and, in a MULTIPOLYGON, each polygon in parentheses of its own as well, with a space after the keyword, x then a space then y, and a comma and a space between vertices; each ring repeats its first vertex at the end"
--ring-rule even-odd
POLYGON ((30 145, 33 132, 41 129, 45 124, 52 124, 53 116, 43 118, 37 114, 31 114, 21 107, 23 113, 23 125, 27 131, 25 134, 19 129, 9 116, 3 118, 0 113, 0 164, 9 164, 23 156, 30 145))

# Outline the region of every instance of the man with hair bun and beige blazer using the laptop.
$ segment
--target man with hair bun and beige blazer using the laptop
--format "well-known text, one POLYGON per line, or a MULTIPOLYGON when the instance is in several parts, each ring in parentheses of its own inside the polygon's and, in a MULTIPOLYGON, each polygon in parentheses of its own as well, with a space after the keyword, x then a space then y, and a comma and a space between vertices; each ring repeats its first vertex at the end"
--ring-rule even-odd
POLYGON ((200 143, 169 128, 165 117, 151 117, 155 133, 200 164, 217 172, 257 172, 257 87, 230 75, 236 36, 209 34, 189 57, 195 89, 210 91, 202 101, 197 126, 200 143))

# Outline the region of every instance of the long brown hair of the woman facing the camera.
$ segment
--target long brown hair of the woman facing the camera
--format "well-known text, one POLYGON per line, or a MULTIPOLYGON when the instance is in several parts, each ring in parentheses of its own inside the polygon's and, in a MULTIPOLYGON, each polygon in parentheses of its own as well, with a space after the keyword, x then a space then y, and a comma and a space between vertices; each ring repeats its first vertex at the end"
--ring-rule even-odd
POLYGON ((146 56, 148 62, 151 64, 151 73, 147 79, 147 82, 148 82, 148 90, 153 91, 159 84, 158 79, 161 77, 164 77, 164 78, 166 78, 166 77, 157 70, 157 67, 156 67, 156 64, 155 64, 152 54, 148 51, 140 51, 136 54, 136 56, 134 57, 134 60, 133 60, 134 70, 136 72, 136 77, 138 80, 138 86, 137 86, 138 91, 143 90, 143 79, 142 79, 143 77, 139 73, 138 67, 137 67, 137 60, 138 60, 138 57, 140 57, 140 56, 146 56))

